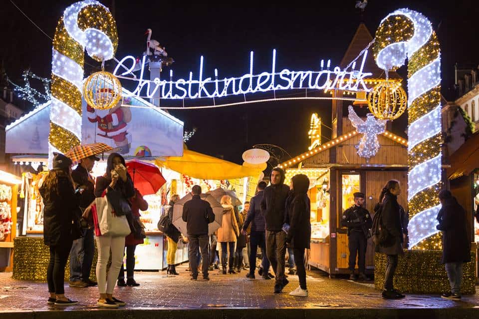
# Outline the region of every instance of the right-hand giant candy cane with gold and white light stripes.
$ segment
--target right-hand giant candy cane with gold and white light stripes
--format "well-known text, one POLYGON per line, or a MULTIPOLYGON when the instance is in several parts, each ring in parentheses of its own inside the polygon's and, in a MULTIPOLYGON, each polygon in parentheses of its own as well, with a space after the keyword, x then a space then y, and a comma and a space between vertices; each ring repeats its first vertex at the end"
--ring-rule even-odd
POLYGON ((423 14, 398 9, 381 21, 373 51, 384 70, 393 71, 408 58, 410 248, 440 249, 441 56, 436 33, 423 14))

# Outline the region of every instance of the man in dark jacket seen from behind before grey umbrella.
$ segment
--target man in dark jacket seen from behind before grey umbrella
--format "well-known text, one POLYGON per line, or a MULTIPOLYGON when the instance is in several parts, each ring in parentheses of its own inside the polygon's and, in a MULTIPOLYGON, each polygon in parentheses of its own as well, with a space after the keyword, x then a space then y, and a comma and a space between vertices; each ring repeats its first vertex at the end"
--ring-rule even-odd
POLYGON ((198 278, 198 249, 200 249, 203 258, 203 279, 210 280, 208 277, 209 241, 208 224, 215 221, 215 214, 210 203, 201 199, 201 187, 195 185, 192 188, 193 199, 189 200, 183 206, 183 221, 186 222, 188 232, 188 241, 190 243, 189 255, 192 272, 192 280, 198 278))

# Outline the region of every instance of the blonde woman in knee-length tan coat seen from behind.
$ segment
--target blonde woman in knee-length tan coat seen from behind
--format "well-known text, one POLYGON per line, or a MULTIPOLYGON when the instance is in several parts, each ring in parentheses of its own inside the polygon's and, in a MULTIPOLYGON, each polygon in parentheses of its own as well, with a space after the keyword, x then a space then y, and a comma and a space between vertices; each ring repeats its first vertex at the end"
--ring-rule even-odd
POLYGON ((218 229, 218 242, 221 243, 221 264, 223 266, 223 275, 226 275, 226 263, 228 258, 228 248, 230 250, 229 271, 230 274, 236 274, 233 269, 235 260, 235 244, 240 234, 240 228, 235 216, 235 209, 231 205, 231 197, 225 195, 221 198, 223 206, 223 220, 221 227, 218 229))

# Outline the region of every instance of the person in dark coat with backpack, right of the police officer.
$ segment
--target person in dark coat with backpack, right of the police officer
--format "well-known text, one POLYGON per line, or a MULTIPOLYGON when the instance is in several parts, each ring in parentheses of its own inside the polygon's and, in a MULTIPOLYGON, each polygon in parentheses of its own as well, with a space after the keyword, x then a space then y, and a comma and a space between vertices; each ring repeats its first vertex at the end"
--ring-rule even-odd
POLYGON ((394 289, 393 278, 398 266, 399 255, 403 255, 403 227, 401 223, 401 207, 398 196, 401 194, 399 181, 390 180, 386 183, 379 204, 375 207, 376 215, 373 219, 373 240, 376 252, 387 255, 384 291, 385 299, 401 299, 404 296, 394 289))

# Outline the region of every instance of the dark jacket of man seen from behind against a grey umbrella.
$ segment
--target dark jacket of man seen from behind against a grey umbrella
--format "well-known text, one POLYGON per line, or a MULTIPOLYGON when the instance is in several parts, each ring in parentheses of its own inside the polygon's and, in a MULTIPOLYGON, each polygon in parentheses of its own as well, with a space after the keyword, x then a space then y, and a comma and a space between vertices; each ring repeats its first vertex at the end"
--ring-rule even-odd
POLYGON ((188 236, 208 235, 208 224, 215 221, 215 214, 210 203, 201 199, 200 195, 183 205, 183 221, 186 222, 188 236))

